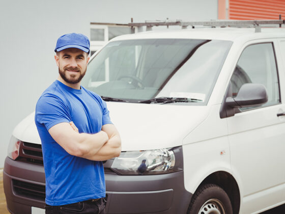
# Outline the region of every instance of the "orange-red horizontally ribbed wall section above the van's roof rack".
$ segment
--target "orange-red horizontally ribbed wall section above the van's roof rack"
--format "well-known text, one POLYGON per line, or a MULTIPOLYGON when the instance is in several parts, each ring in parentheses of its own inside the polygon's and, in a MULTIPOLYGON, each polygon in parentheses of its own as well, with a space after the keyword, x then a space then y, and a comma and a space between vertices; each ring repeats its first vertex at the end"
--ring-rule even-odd
POLYGON ((285 19, 285 0, 229 0, 229 19, 285 19))

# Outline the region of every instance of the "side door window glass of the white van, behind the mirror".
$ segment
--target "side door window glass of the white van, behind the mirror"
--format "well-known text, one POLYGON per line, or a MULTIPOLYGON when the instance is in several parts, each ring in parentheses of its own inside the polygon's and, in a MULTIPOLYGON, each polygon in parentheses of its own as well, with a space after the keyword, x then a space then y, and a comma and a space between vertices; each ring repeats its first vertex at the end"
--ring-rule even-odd
MULTIPOLYGON (((237 63, 231 78, 233 97, 245 83, 263 84, 268 93, 268 102, 262 106, 280 102, 279 83, 272 43, 260 43, 247 46, 237 63)), ((252 109, 240 108, 241 111, 252 109)))

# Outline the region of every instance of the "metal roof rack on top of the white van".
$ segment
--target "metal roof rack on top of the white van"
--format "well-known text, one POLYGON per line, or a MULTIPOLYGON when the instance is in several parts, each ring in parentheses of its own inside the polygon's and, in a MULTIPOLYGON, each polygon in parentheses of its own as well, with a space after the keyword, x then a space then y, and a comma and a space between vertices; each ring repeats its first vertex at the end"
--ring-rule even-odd
POLYGON ((215 20, 215 21, 146 21, 140 23, 128 23, 129 26, 147 26, 147 31, 151 31, 153 26, 170 26, 170 25, 179 25, 182 26, 182 29, 186 29, 188 26, 210 26, 211 28, 216 28, 217 26, 220 28, 229 27, 237 27, 237 28, 255 28, 255 32, 261 32, 261 24, 273 25, 279 24, 279 28, 281 25, 285 23, 285 20, 277 19, 277 20, 215 20))

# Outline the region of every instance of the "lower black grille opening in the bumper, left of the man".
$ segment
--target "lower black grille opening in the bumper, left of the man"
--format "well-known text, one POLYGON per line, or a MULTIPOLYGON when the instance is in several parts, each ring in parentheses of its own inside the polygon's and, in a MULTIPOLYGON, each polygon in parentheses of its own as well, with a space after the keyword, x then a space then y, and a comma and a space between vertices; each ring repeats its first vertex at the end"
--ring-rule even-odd
POLYGON ((45 185, 12 179, 14 193, 18 196, 45 201, 45 185))

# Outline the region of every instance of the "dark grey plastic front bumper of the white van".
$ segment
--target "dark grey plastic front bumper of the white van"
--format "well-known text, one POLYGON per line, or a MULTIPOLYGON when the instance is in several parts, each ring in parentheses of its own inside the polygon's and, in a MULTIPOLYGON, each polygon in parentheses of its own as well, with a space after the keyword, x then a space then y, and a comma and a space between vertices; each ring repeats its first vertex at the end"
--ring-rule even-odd
MULTIPOLYGON (((5 160, 3 173, 7 207, 11 213, 44 208, 44 168, 5 160)), ((106 213, 186 213, 192 194, 184 188, 183 171, 163 175, 105 174, 106 213)))

